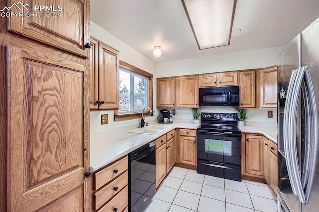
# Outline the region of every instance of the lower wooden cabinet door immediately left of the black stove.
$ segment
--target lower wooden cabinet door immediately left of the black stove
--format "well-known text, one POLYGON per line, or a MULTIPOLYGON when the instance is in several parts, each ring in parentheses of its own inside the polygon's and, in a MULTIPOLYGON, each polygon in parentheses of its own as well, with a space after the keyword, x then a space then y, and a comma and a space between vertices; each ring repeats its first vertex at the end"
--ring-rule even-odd
POLYGON ((196 165, 196 138, 180 136, 180 163, 196 165))

